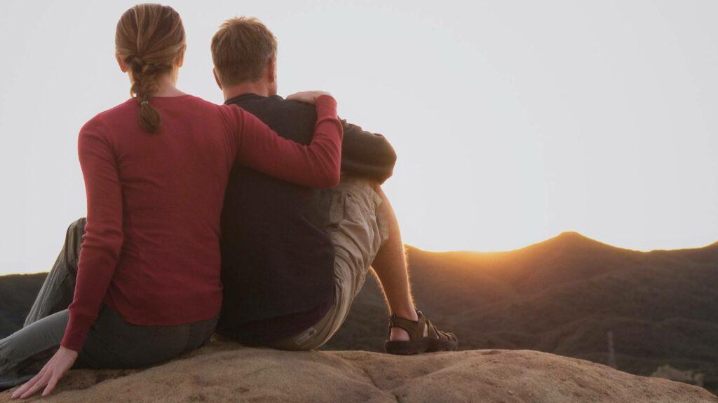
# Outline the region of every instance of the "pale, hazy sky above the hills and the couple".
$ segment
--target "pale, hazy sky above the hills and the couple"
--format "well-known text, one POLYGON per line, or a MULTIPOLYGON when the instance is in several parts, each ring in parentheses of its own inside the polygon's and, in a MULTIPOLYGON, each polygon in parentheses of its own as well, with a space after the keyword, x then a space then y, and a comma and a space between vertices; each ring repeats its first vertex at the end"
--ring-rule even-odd
MULTIPOLYGON (((0 275, 49 270, 85 215, 78 130, 129 97, 114 31, 134 4, 0 4, 0 275)), ((256 16, 279 40, 280 95, 328 90, 387 136, 406 243, 718 241, 718 1, 164 4, 187 30, 181 90, 223 102, 210 38, 256 16)))

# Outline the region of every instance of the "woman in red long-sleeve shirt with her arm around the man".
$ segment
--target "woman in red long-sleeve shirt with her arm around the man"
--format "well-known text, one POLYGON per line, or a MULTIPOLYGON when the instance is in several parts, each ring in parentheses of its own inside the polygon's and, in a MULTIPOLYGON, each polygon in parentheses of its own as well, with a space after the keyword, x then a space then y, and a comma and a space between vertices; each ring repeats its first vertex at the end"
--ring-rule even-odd
POLYGON ((295 97, 317 109, 314 141, 299 146, 236 106, 177 90, 185 31, 171 7, 129 9, 115 41, 134 97, 80 131, 88 217, 73 302, 0 341, 5 381, 27 379, 57 350, 13 397, 49 394, 73 366, 157 364, 210 338, 222 295, 220 212, 235 159, 297 184, 339 181, 342 131, 326 93, 295 97))

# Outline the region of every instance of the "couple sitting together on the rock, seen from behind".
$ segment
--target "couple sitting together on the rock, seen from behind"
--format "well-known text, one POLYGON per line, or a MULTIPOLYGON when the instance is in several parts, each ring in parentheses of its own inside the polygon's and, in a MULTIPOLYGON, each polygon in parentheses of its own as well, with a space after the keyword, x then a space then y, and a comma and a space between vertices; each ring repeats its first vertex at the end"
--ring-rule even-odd
POLYGON ((0 341, 0 390, 48 394, 68 369, 150 366, 216 332, 312 350, 347 318, 371 268, 392 354, 457 348, 414 308, 381 183, 380 135, 339 120, 328 93, 276 95, 276 39, 230 19, 212 39, 225 105, 175 87, 185 30, 141 4, 117 24, 132 98, 80 130, 88 214, 70 225, 24 328, 0 341))

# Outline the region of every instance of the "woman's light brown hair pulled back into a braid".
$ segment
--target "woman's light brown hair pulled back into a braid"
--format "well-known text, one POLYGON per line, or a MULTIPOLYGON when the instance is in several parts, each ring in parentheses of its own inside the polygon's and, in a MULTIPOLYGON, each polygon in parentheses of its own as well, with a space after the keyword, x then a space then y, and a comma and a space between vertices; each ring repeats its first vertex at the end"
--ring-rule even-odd
POLYGON ((138 4, 125 11, 117 23, 115 54, 129 68, 130 95, 140 104, 139 123, 151 133, 162 119, 149 105, 159 90, 157 78, 172 72, 185 52, 185 27, 170 6, 138 4))

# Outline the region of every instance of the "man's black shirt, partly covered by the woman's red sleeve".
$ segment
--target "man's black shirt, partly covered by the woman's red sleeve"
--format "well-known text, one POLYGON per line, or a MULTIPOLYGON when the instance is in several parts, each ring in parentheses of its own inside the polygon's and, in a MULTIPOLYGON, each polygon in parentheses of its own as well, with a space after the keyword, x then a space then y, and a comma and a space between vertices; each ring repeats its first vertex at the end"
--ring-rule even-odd
MULTIPOLYGON (((314 105, 279 96, 228 100, 279 136, 309 144, 314 105)), ((396 154, 381 135, 342 121, 342 172, 383 182, 396 154)), ((298 333, 334 303, 334 246, 326 189, 290 184, 237 161, 222 212, 223 304, 218 331, 250 344, 298 333)))

